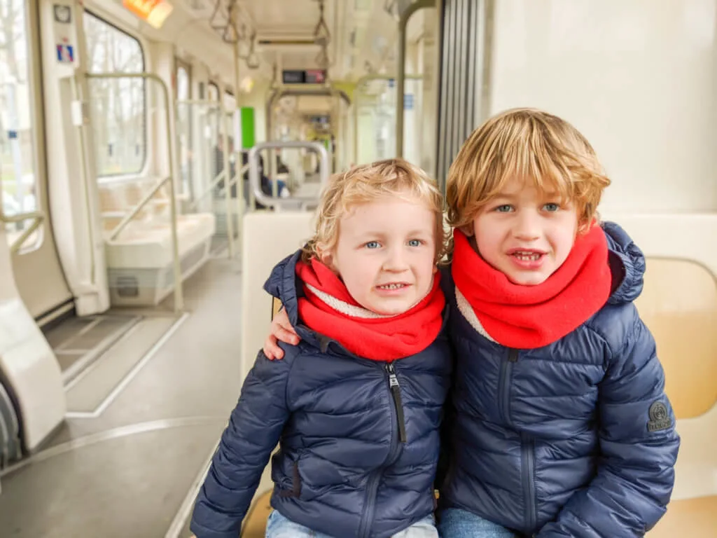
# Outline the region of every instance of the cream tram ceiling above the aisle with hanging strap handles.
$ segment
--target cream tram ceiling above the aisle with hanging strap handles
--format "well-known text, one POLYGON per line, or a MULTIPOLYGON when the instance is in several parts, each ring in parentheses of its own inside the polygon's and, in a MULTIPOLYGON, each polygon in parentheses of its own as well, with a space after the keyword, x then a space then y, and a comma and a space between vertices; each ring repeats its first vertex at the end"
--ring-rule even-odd
POLYGON ((399 1, 175 0, 174 3, 184 14, 201 19, 202 26, 214 33, 214 42, 238 37, 245 49, 253 42, 260 77, 270 78, 273 65, 280 69, 328 67, 332 80, 356 80, 367 72, 395 69, 395 11, 400 9, 399 1), (232 10, 238 14, 236 29, 227 27, 232 10))

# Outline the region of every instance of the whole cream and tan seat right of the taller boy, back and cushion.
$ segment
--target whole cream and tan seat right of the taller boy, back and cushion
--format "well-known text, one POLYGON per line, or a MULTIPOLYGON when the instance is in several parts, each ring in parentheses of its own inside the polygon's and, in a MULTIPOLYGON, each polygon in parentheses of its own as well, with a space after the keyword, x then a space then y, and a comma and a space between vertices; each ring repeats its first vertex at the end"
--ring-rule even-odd
POLYGON ((714 537, 717 529, 717 214, 606 216, 647 257, 635 304, 657 342, 682 439, 667 514, 648 538, 714 537))

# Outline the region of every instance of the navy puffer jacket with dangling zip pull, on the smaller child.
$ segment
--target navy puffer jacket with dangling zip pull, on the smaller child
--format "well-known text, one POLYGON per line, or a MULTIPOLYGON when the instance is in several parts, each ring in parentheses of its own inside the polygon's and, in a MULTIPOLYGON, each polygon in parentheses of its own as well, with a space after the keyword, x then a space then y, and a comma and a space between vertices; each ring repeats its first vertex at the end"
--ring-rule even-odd
POLYGON ((196 501, 191 530, 199 538, 238 536, 277 442, 271 504, 293 522, 331 536, 382 538, 435 509, 452 368, 445 331, 392 363, 350 354, 300 324, 299 255, 274 268, 265 290, 284 304, 300 344, 282 344, 280 361, 260 351, 244 381, 196 501))

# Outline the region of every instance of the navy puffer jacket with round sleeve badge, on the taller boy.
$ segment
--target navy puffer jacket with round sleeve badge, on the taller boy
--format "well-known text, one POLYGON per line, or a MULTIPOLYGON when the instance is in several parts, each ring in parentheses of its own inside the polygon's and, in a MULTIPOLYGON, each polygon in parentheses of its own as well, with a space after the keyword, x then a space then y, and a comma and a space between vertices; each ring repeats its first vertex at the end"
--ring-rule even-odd
POLYGON ((548 346, 489 341, 450 286, 457 362, 442 506, 538 538, 638 537, 665 512, 680 440, 655 341, 632 303, 645 258, 617 225, 603 228, 612 296, 548 346))

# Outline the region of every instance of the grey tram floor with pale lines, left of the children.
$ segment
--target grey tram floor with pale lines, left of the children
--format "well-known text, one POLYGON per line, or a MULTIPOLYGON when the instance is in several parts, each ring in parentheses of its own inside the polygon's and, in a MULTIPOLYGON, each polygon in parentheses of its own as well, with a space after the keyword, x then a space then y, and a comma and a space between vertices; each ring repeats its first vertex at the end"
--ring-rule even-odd
POLYGON ((241 388, 239 267, 209 260, 185 283, 184 316, 170 300, 112 310, 95 335, 78 320, 48 334, 70 351, 64 370, 77 360, 90 367, 66 385, 78 417, 1 477, 1 537, 161 538, 173 525, 171 536, 188 535, 181 508, 191 508, 241 388), (90 344, 73 336, 83 329, 87 341, 105 342, 98 358, 87 359, 90 344))

